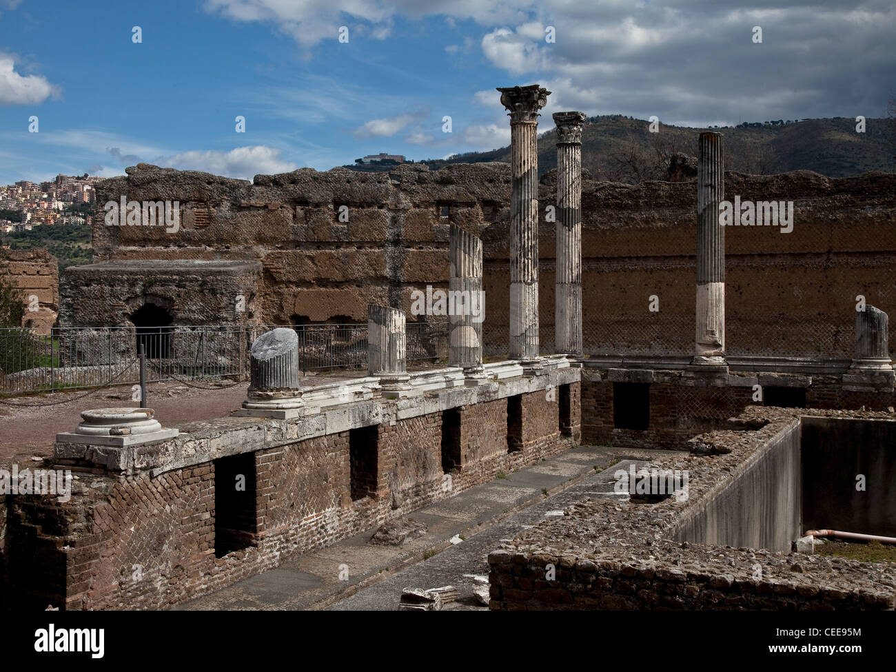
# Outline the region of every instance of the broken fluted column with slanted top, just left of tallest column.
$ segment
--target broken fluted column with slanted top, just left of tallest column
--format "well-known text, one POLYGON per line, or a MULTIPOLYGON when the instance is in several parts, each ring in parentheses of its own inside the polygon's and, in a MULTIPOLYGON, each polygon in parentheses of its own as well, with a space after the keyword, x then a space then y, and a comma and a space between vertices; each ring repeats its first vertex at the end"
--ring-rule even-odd
POLYGON ((452 224, 448 257, 451 278, 449 297, 451 332, 448 342, 448 366, 462 366, 465 383, 477 385, 487 378, 482 367, 482 320, 485 301, 482 292, 482 241, 452 224))

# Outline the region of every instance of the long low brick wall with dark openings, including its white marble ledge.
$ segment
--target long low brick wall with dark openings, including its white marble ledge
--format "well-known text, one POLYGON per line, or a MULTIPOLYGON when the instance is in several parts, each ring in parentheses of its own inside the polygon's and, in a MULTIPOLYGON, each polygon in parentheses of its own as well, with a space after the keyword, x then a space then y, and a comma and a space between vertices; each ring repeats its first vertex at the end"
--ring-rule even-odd
POLYGON ((79 477, 70 501, 18 495, 0 508, 0 595, 29 608, 166 608, 375 528, 573 445, 578 369, 539 378, 362 401, 286 421, 187 423, 177 438, 135 449, 126 464, 114 450, 68 444, 56 468, 79 477), (572 400, 569 436, 559 395, 546 393, 546 385, 561 384, 572 400), (510 452, 508 397, 517 394, 520 443, 510 452), (451 408, 459 413, 461 463, 446 487, 442 411, 451 408), (350 430, 365 426, 377 437, 374 492, 353 499, 350 430), (217 557, 216 470, 220 458, 236 455, 254 465, 254 531, 242 550, 217 557))

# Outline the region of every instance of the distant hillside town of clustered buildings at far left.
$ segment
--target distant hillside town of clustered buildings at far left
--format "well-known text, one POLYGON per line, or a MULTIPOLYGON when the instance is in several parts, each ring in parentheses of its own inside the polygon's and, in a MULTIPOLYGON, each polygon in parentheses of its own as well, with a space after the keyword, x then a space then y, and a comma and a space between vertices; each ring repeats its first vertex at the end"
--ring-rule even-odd
POLYGON ((39 224, 90 226, 94 185, 102 179, 85 173, 0 186, 0 233, 28 231, 39 224))

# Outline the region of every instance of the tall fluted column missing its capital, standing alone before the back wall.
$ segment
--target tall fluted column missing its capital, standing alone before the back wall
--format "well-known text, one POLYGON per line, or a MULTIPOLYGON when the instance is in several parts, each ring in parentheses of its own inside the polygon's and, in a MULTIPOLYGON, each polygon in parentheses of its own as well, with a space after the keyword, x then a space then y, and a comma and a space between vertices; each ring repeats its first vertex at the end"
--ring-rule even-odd
POLYGON ((725 228, 719 203, 725 200, 722 134, 703 131, 697 162, 697 312, 694 366, 726 367, 725 228))

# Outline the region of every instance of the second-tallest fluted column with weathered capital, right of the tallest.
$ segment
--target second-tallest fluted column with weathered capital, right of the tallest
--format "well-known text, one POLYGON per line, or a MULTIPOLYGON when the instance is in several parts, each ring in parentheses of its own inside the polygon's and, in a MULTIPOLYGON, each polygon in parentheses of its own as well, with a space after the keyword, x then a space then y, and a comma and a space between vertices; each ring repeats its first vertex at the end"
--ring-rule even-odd
POLYGON ((584 112, 556 112, 557 221, 555 350, 582 357, 582 123, 584 112))

